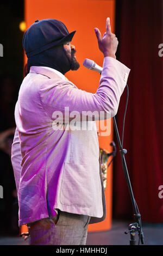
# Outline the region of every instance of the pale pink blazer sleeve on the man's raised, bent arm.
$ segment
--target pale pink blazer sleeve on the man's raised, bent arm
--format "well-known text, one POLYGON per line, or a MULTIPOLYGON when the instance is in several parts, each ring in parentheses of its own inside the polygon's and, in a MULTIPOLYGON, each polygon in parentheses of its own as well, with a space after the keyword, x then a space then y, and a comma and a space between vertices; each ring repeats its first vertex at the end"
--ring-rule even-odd
POLYGON ((39 91, 42 106, 52 119, 55 119, 55 111, 60 111, 63 117, 67 116, 69 120, 72 112, 80 115, 88 115, 86 112, 90 112, 91 115, 93 112, 93 120, 101 120, 101 112, 107 114, 104 119, 114 117, 129 72, 130 69, 118 60, 105 57, 99 87, 95 94, 78 89, 66 80, 48 79, 39 91))

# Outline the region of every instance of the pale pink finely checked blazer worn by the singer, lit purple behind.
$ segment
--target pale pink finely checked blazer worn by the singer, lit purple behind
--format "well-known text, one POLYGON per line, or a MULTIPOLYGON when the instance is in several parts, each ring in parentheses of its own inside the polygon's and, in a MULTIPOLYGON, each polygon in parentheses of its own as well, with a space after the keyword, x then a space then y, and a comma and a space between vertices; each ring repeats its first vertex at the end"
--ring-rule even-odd
POLYGON ((53 217, 54 209, 89 215, 90 223, 104 220, 105 195, 95 120, 100 111, 110 117, 116 115, 129 71, 118 60, 105 57, 99 87, 93 94, 78 89, 55 70, 30 68, 18 94, 11 150, 20 226, 46 218, 49 213, 53 217), (95 111, 92 129, 67 126, 75 117, 70 114, 73 111, 79 113, 78 118, 83 111, 95 111), (64 127, 69 129, 54 125, 56 113, 62 114, 64 127))

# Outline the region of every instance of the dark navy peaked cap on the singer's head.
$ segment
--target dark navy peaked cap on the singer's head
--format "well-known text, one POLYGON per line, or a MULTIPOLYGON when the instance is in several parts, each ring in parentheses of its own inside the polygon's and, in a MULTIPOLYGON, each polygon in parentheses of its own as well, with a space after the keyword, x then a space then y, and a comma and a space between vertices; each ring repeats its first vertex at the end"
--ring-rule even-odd
POLYGON ((36 20, 23 36, 23 47, 27 57, 35 56, 54 46, 70 42, 76 31, 71 33, 58 20, 36 20))

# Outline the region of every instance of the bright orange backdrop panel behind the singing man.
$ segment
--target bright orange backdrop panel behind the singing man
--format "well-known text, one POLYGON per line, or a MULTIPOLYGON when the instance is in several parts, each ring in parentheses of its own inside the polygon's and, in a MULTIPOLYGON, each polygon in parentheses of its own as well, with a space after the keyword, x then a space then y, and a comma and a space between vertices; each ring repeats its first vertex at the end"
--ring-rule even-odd
MULTIPOLYGON (((111 29, 115 30, 115 1, 101 0, 25 0, 24 15, 28 28, 35 20, 56 19, 65 23, 69 32, 76 30, 72 44, 76 46, 76 57, 80 63, 78 71, 66 74, 79 89, 96 93, 100 75, 83 66, 85 58, 93 59, 98 65, 103 65, 103 54, 98 50, 94 28, 105 32, 106 17, 110 17, 111 29)), ((27 58, 24 54, 24 64, 27 58)), ((100 125, 99 125, 100 126, 100 125)), ((111 121, 112 126, 112 121, 111 121)), ((112 130, 110 136, 99 136, 99 147, 111 151, 112 130)), ((100 132, 100 131, 99 131, 100 132)), ((109 159, 110 160, 110 159, 109 159)), ((112 164, 108 168, 108 179, 105 190, 106 219, 101 223, 89 225, 89 231, 108 230, 111 228, 112 213, 112 164)))

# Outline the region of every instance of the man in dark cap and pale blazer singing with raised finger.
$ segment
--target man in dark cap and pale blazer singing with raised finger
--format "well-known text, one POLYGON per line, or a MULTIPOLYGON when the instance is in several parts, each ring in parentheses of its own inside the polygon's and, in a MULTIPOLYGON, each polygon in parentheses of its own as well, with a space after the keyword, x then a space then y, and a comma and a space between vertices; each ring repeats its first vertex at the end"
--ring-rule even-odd
POLYGON ((70 44, 75 32, 58 20, 36 20, 23 37, 30 71, 15 107, 11 161, 18 225, 28 224, 30 245, 85 245, 87 225, 105 219, 95 120, 101 112, 105 119, 116 115, 130 69, 116 60, 118 41, 107 18, 103 37, 95 28, 104 54, 97 92, 78 89, 65 77, 79 68, 70 44), (73 129, 73 112, 94 112, 86 121, 92 129, 73 129))

